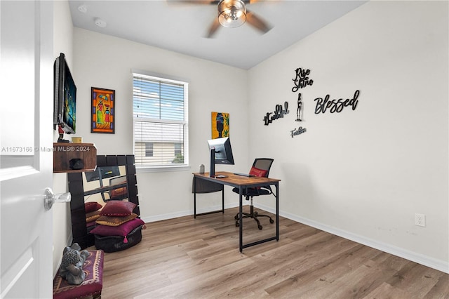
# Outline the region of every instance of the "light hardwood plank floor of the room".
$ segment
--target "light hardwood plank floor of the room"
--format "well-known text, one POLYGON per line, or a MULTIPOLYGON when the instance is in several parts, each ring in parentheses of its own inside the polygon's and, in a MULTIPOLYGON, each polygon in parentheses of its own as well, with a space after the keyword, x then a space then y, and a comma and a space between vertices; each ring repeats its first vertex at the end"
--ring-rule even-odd
MULTIPOLYGON (((237 212, 147 223, 105 253, 102 298, 449 298, 449 274, 282 217, 279 242, 239 253, 237 212)), ((244 244, 275 234, 262 225, 244 220, 244 244)))

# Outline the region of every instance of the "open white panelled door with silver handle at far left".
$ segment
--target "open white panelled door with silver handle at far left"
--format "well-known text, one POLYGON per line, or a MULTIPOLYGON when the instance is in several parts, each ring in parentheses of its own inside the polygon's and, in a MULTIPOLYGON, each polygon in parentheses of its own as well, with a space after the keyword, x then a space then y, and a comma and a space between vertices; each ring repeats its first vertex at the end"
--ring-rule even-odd
POLYGON ((53 297, 53 2, 0 1, 1 298, 53 297))

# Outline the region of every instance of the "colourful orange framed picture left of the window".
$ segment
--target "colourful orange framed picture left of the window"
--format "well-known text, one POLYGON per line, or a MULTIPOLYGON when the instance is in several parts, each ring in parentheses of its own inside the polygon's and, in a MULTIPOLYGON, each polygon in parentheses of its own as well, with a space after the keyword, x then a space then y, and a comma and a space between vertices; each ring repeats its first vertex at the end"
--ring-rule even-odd
POLYGON ((115 133, 115 91, 92 87, 91 133, 115 133))

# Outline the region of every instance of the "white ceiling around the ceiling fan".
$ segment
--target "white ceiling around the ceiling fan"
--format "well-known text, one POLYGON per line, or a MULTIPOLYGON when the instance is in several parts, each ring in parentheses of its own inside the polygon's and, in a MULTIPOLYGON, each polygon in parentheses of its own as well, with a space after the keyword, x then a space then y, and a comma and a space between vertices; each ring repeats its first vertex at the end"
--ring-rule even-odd
POLYGON ((248 4, 247 9, 272 26, 269 32, 261 34, 247 22, 237 28, 220 27, 210 39, 205 36, 217 16, 215 5, 71 0, 69 6, 75 27, 250 69, 365 2, 260 0, 248 4), (79 6, 87 11, 80 12, 79 6), (95 25, 97 18, 107 26, 95 25))

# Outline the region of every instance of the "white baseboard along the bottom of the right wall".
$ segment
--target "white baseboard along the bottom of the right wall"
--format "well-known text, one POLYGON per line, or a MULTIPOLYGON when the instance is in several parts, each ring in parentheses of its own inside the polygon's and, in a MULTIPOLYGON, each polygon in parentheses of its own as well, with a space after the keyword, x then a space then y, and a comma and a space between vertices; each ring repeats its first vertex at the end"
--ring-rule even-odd
MULTIPOLYGON (((262 204, 257 204, 257 208, 261 208, 264 211, 267 211, 269 213, 276 213, 274 208, 271 208, 269 206, 264 206, 262 204)), ((293 215, 284 211, 279 211, 279 215, 282 217, 288 218, 290 220, 300 222, 304 225, 309 225, 311 227, 315 227, 319 230, 323 230, 325 232, 328 232, 330 234, 335 234, 336 236, 342 237, 344 239, 349 239, 351 241, 355 241, 357 243, 370 246, 372 248, 376 248, 380 251, 384 251, 386 253, 390 253, 392 255, 396 255, 400 258, 405 258, 406 260, 411 260, 415 263, 431 267, 433 269, 436 269, 441 272, 449 273, 449 262, 444 260, 437 260, 436 258, 431 258, 427 255, 423 255, 421 253, 415 253, 413 251, 408 251, 407 249, 400 248, 393 246, 391 244, 383 243, 380 241, 376 241, 370 238, 366 238, 363 236, 360 236, 358 234, 353 234, 351 232, 347 232, 345 230, 339 230, 336 227, 331 227, 329 225, 325 225, 321 222, 316 222, 314 220, 310 220, 307 218, 302 218, 297 215, 293 215)), ((282 237, 282 236, 281 236, 282 237)))

